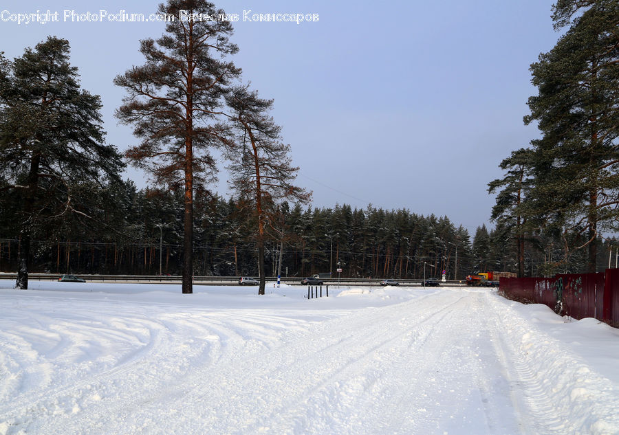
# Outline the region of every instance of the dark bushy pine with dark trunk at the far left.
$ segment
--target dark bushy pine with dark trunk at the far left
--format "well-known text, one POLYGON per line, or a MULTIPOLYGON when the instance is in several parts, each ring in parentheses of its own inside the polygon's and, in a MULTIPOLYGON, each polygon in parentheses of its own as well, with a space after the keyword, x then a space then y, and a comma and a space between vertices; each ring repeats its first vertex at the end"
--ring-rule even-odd
POLYGON ((80 186, 102 186, 123 168, 116 148, 104 143, 100 98, 80 89, 69 50, 68 41, 50 36, 13 62, 0 56, 1 188, 21 202, 20 289, 28 288, 30 242, 41 224, 85 216, 80 186))

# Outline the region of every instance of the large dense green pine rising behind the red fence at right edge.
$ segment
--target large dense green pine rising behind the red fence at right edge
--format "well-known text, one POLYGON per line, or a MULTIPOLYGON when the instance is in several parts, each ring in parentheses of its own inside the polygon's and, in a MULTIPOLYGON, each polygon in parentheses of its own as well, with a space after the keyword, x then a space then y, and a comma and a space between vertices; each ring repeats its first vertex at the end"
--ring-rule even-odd
POLYGON ((531 65, 539 95, 529 99, 543 137, 532 141, 534 189, 528 212, 584 234, 589 272, 596 271, 596 238, 619 216, 619 3, 558 1, 555 27, 570 25, 531 65), (574 16, 576 18, 574 18, 574 16))

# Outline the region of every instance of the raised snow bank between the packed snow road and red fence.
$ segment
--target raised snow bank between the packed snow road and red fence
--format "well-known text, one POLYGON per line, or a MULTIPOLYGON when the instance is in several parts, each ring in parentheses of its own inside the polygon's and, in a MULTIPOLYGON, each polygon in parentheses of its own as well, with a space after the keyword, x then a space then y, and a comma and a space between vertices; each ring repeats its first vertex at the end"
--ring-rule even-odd
POLYGON ((537 393, 532 409, 561 416, 564 434, 619 434, 619 331, 595 319, 569 322, 541 304, 495 299, 517 370, 537 393))

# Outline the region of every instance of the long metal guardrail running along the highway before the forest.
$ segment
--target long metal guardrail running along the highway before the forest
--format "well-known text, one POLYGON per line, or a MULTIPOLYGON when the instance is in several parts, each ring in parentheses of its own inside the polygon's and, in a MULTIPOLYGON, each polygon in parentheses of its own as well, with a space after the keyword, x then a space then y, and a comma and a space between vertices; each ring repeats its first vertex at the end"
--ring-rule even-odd
MULTIPOLYGON (((28 274, 30 280, 48 280, 57 281, 58 278, 65 274, 28 274)), ((87 282, 161 282, 169 284, 179 284, 182 281, 182 277, 179 275, 86 275, 78 274, 80 278, 83 278, 87 282)), ((194 276, 193 283, 195 285, 238 285, 240 276, 194 276)), ((11 272, 0 272, 0 280, 14 280, 17 279, 17 274, 11 272)), ((285 277, 281 278, 281 282, 288 285, 301 285, 303 278, 285 277)), ((268 285, 272 285, 277 281, 277 278, 267 277, 268 285)), ((325 279, 323 282, 325 285, 358 285, 358 286, 378 286, 382 278, 337 278, 325 279)), ((415 285, 422 286, 423 280, 397 280, 402 286, 415 285)), ((440 282, 442 286, 458 287, 465 285, 466 281, 447 280, 446 282, 440 282)))

